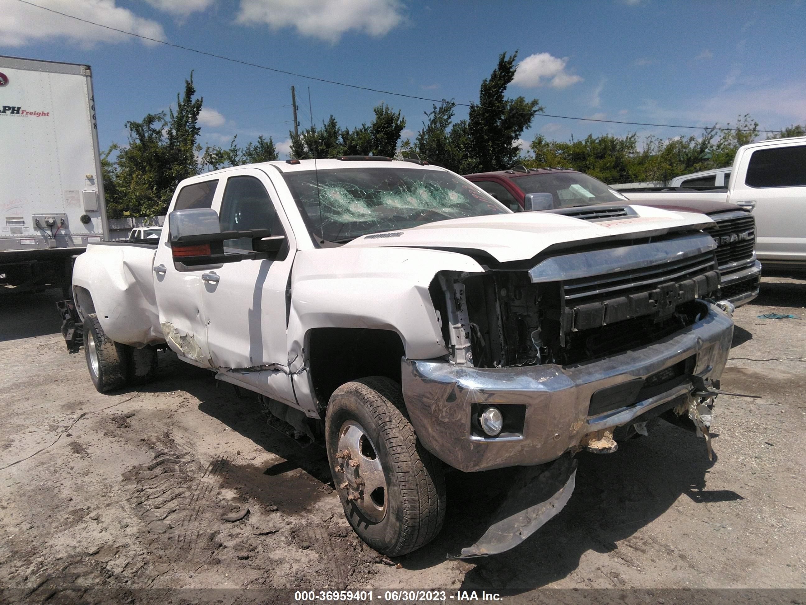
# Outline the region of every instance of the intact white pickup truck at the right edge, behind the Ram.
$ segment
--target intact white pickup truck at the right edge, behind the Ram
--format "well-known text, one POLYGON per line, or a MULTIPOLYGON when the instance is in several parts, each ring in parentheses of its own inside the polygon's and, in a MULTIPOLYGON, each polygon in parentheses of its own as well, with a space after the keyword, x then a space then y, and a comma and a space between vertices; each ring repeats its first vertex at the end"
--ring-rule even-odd
POLYGON ((727 193, 621 190, 621 194, 637 203, 668 198, 670 203, 700 200, 736 204, 753 211, 755 252, 762 265, 768 269, 806 269, 806 136, 744 145, 736 152, 729 174, 727 193))

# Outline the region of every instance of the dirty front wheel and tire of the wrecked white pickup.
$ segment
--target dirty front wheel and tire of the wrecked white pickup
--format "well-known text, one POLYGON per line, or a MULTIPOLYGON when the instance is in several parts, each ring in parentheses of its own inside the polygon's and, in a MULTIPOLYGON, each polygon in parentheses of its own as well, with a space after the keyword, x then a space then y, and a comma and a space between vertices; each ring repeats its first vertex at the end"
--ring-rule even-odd
POLYGON ((327 406, 325 435, 344 514, 364 542, 394 557, 437 536, 445 519, 442 465, 415 435, 397 382, 370 377, 339 386, 327 406), (359 445, 351 448, 350 443, 359 445), (344 456, 346 450, 350 457, 344 456), (353 461, 357 464, 351 465, 353 461), (348 472, 354 475, 343 487, 348 472), (383 510, 377 506, 379 481, 385 483, 383 510), (374 489, 361 493, 362 487, 374 489), (349 499, 351 494, 357 499, 349 499))

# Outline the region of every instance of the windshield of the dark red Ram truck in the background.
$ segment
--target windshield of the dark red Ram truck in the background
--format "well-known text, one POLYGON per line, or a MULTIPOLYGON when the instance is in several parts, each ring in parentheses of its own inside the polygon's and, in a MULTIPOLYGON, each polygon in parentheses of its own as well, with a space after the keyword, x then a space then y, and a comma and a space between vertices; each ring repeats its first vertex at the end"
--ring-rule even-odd
POLYGON ((626 198, 583 173, 542 173, 513 179, 525 194, 551 194, 555 208, 624 202, 626 198))

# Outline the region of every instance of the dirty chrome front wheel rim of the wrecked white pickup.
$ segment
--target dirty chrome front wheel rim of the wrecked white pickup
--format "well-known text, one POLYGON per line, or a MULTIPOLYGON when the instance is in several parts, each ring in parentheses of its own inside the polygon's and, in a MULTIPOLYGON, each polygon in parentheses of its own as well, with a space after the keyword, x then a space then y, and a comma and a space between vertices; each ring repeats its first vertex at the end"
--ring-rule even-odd
POLYGON ((367 519, 379 523, 386 516, 388 486, 376 445, 364 427, 347 420, 339 429, 336 476, 339 490, 367 519))

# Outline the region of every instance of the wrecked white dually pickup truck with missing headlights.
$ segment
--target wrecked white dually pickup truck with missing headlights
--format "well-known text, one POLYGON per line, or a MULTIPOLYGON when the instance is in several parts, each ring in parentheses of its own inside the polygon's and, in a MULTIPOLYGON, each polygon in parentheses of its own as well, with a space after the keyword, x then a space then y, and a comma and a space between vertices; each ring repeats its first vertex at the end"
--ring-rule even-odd
POLYGON ((90 245, 73 294, 106 392, 156 348, 260 394, 322 440, 347 519, 409 553, 443 471, 520 466, 461 556, 512 548, 567 502, 580 449, 664 419, 708 440, 733 334, 696 213, 513 214, 422 161, 275 161, 182 181, 156 249, 90 245))

